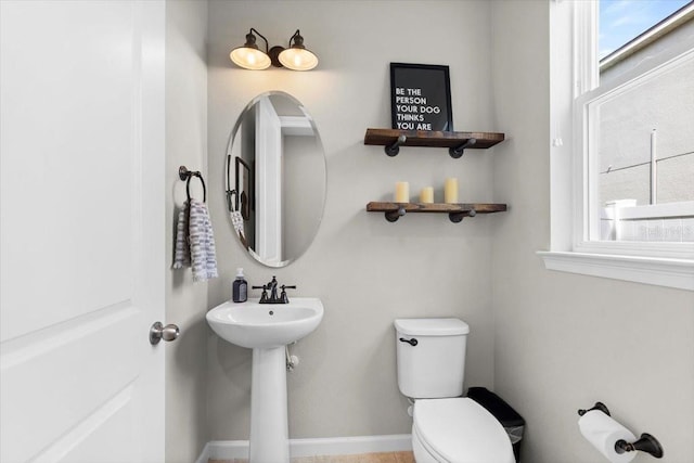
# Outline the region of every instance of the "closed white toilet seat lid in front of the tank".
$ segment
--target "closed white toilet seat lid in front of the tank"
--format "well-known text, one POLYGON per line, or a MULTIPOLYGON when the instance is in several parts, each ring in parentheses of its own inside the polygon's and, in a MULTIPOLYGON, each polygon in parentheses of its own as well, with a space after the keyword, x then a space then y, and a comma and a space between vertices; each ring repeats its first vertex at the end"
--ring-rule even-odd
POLYGON ((465 397, 414 402, 412 437, 432 461, 515 463, 511 440, 501 423, 465 397))

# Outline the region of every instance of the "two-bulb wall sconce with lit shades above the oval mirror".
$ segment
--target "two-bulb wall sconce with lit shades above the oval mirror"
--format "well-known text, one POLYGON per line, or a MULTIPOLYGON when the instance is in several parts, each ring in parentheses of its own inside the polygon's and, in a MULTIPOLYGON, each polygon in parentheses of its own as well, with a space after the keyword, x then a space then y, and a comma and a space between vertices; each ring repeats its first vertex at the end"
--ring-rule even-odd
POLYGON ((253 27, 246 35, 246 43, 229 53, 236 66, 250 70, 267 69, 270 65, 292 70, 310 70, 318 65, 318 56, 304 46, 304 37, 297 29, 290 37, 290 47, 272 47, 268 50, 268 40, 253 27), (265 52, 256 44, 256 36, 265 40, 265 52))

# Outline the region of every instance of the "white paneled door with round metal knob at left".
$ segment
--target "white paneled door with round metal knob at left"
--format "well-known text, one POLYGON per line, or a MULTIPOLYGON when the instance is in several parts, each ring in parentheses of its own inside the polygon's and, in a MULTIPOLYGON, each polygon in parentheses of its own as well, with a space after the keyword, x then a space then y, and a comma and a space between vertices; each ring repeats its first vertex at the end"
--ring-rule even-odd
POLYGON ((162 462, 164 3, 0 9, 0 461, 162 462))

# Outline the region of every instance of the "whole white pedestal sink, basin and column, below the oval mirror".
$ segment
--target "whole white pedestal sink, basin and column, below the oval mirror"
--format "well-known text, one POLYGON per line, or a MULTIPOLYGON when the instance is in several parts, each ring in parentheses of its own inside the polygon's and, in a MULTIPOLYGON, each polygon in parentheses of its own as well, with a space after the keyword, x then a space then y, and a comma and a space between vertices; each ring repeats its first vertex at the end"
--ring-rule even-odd
POLYGON ((314 297, 258 300, 224 303, 207 312, 207 322, 222 339, 253 349, 249 463, 288 463, 284 347, 318 327, 323 304, 314 297))

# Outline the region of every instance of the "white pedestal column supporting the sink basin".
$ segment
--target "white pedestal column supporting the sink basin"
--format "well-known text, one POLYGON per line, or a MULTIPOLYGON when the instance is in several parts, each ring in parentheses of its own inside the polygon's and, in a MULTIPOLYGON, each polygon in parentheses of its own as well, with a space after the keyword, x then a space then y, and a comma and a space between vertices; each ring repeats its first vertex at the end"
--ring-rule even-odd
POLYGON ((249 463, 288 463, 286 359, 283 347, 253 349, 249 463))

